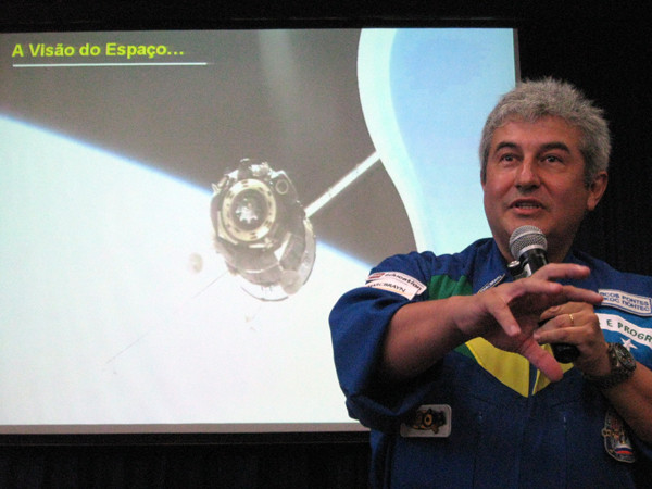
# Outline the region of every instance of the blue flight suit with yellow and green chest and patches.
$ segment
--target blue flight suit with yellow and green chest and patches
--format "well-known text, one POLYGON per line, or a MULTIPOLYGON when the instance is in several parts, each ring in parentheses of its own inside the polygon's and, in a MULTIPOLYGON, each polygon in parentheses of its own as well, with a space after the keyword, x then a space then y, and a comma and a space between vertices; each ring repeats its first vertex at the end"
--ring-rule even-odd
MULTIPOLYGON (((587 279, 568 283, 605 298, 595 313, 606 341, 624 343, 652 368, 652 277, 617 272, 580 252, 565 261, 591 268, 587 279)), ((615 414, 572 364, 563 365, 561 381, 550 383, 524 358, 476 338, 410 381, 378 379, 385 331, 399 308, 511 279, 493 239, 481 239, 456 254, 391 256, 372 271, 367 286, 335 305, 335 363, 350 415, 372 430, 373 487, 626 488, 650 479, 652 446, 630 432, 623 444, 603 437, 615 414), (428 406, 450 432, 432 434, 416 426, 428 406)))

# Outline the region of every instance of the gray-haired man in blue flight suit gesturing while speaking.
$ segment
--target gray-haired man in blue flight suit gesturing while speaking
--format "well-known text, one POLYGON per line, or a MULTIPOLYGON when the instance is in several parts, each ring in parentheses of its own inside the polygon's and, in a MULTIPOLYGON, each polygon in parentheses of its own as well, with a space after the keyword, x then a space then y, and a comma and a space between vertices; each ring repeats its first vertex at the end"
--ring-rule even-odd
MULTIPOLYGON (((375 487, 636 487, 652 459, 652 277, 573 251, 607 184, 602 112, 573 86, 518 85, 480 145, 492 239, 385 260, 330 315, 375 487), (549 264, 513 279, 524 225, 549 264), (552 343, 575 346, 559 363, 552 343)), ((649 480, 648 480, 649 481, 649 480)))

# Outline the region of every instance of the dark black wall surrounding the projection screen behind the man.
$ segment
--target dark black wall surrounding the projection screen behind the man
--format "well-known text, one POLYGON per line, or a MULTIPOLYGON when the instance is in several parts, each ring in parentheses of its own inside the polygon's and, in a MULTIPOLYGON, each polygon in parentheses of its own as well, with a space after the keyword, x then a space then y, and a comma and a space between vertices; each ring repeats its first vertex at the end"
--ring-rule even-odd
MULTIPOLYGON (((610 187, 577 244, 652 275, 652 28, 645 2, 64 2, 5 0, 2 30, 498 25, 518 28, 524 78, 568 79, 614 133, 610 187), (454 3, 454 4, 451 4, 454 3)), ((1 393, 0 393, 1 396, 1 393)), ((1 402, 1 401, 0 401, 1 402)), ((0 438, 0 487, 364 487, 364 437, 0 438)))

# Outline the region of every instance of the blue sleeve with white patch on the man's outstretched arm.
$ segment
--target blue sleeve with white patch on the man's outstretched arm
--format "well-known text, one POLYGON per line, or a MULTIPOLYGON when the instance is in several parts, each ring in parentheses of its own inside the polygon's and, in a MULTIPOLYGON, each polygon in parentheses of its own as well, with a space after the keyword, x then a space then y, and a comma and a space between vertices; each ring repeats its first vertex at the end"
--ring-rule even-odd
MULTIPOLYGON (((374 277, 383 273, 399 274, 413 279, 416 287, 427 283, 428 258, 423 254, 394 256, 372 271, 367 286, 353 289, 340 298, 329 317, 335 365, 340 387, 347 398, 351 417, 364 426, 381 431, 394 431, 406 415, 418 406, 431 390, 428 379, 438 366, 410 383, 384 385, 377 378, 387 327, 403 305, 427 299, 425 286, 421 293, 388 290, 374 286, 374 277)), ((421 290, 421 289, 419 289, 421 290)))

